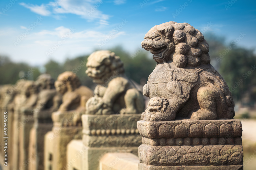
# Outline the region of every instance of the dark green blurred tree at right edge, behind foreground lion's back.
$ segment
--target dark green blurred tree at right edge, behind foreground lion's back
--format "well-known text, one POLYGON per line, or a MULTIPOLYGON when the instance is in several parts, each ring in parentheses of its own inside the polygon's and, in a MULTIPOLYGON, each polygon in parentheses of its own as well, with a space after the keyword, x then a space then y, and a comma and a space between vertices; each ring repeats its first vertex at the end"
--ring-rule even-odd
POLYGON ((255 100, 256 56, 253 50, 233 47, 219 63, 218 71, 226 80, 234 99, 241 100, 249 92, 250 98, 255 100))

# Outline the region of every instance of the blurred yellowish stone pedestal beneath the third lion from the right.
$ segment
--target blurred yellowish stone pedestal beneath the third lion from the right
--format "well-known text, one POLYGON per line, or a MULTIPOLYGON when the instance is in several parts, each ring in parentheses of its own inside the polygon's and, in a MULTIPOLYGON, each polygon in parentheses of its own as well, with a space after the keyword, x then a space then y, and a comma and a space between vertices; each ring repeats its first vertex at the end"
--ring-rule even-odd
POLYGON ((45 135, 44 169, 63 170, 67 165, 67 145, 72 139, 82 139, 82 122, 77 111, 52 113, 52 131, 45 135))

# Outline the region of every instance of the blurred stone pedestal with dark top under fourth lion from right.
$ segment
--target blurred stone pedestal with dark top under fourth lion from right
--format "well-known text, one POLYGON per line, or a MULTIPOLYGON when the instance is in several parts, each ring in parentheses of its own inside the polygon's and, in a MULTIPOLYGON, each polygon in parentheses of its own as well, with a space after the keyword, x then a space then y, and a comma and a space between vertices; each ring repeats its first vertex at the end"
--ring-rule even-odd
POLYGON ((44 169, 44 136, 53 126, 51 113, 48 110, 34 113, 34 125, 29 135, 29 170, 44 169))

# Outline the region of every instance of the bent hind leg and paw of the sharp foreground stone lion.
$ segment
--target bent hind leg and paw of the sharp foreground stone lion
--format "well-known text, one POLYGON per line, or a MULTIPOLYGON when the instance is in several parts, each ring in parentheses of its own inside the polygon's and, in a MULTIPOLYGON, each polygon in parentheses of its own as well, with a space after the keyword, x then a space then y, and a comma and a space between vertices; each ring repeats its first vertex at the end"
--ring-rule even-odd
POLYGON ((211 120, 217 118, 216 99, 218 93, 211 87, 200 87, 197 91, 197 100, 200 106, 196 112, 191 114, 190 119, 211 120))

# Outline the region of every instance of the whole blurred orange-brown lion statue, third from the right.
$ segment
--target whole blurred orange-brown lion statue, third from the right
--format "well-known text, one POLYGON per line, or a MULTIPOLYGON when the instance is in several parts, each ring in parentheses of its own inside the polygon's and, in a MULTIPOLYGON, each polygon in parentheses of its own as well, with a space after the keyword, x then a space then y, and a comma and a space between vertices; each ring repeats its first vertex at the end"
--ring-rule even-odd
POLYGON ((58 76, 55 88, 63 95, 58 111, 84 110, 85 103, 93 96, 92 90, 82 86, 77 75, 71 71, 66 71, 58 76))

